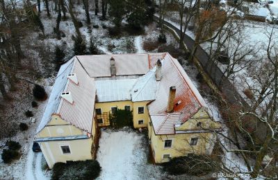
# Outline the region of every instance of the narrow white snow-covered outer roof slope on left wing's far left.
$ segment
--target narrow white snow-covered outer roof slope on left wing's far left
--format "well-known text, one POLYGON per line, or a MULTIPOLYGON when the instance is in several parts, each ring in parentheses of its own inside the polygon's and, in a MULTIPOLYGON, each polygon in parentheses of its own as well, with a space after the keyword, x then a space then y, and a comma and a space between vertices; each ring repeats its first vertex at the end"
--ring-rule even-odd
POLYGON ((44 114, 40 125, 38 126, 37 133, 40 132, 47 123, 51 120, 51 115, 56 112, 60 104, 60 94, 64 91, 67 84, 67 75, 72 71, 74 65, 74 57, 67 63, 60 66, 60 70, 56 77, 54 86, 52 88, 49 100, 47 102, 47 107, 44 109, 44 114))

